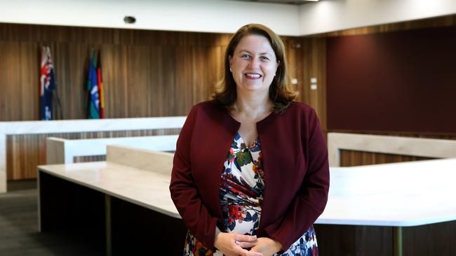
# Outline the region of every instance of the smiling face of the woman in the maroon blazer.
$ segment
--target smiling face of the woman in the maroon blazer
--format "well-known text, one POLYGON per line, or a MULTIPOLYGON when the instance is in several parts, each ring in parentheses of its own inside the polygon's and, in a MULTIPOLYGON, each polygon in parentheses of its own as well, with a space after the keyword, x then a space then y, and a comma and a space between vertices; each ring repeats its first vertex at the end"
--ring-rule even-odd
POLYGON ((269 93, 279 63, 264 36, 243 36, 229 56, 229 66, 239 93, 269 93))

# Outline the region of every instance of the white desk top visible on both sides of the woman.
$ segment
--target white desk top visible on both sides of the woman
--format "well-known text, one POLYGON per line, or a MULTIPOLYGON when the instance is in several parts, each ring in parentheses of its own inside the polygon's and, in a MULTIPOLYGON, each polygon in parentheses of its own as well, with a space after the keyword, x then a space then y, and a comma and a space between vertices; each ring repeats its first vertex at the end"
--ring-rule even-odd
MULTIPOLYGON (((180 218, 170 176, 92 162, 41 171, 180 218)), ((316 223, 406 227, 456 220, 456 159, 330 169, 328 205, 316 223)))

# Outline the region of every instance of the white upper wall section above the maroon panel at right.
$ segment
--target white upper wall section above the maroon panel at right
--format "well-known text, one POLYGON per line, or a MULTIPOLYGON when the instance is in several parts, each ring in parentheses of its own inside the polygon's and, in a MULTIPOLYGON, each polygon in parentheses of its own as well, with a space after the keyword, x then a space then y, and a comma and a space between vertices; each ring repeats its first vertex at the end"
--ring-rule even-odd
POLYGON ((456 13, 456 0, 320 0, 300 6, 300 35, 456 13))

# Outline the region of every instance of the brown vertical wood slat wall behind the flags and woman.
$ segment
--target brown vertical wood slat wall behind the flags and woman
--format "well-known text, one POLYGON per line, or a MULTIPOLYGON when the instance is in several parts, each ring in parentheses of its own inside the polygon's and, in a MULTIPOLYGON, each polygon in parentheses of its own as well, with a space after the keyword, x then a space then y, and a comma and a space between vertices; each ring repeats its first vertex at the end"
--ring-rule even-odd
MULTIPOLYGON (((336 31, 303 38, 286 38, 298 101, 314 107, 326 127, 326 37, 379 33, 455 25, 456 16, 336 31), (317 90, 310 90, 310 78, 317 90)), ((98 29, 25 24, 0 24, 0 120, 37 120, 40 46, 50 45, 58 79, 63 118, 85 118, 86 72, 91 48, 102 50, 107 118, 186 115, 190 106, 208 99, 222 72, 229 34, 98 29)), ((357 131, 350 131, 357 132, 357 131)), ((375 131, 372 134, 377 134, 375 131)), ((391 134, 395 135, 395 134, 391 134)), ((447 138, 448 134, 431 134, 447 138)), ((410 134, 424 136, 427 134, 410 134)), ((429 136, 428 136, 429 137, 429 136)), ((11 138, 12 140, 13 138, 11 138)), ((43 138, 41 138, 41 141, 43 138)), ((32 139, 39 141, 39 139, 32 139)), ((36 142, 36 150, 42 151, 36 142)), ((16 148, 15 148, 16 147, 16 148)), ((8 152, 18 143, 8 143, 8 152)), ((30 145, 30 147, 33 147, 30 145)), ((38 153, 36 153, 38 154, 38 153)), ((23 162, 43 164, 39 155, 22 155, 23 162)), ((371 153, 344 152, 345 165, 399 162, 371 153), (366 155, 367 154, 367 155, 366 155), (370 156, 368 156, 370 154, 370 156), (361 159, 361 162, 360 160, 361 159)), ((13 156, 9 156, 13 157, 13 156)), ((394 157, 393 157, 394 158, 394 157)), ((9 159, 9 158, 8 158, 9 159)), ((9 160, 8 160, 9 161, 9 160)), ((15 164, 15 166, 18 166, 15 164)), ((18 167, 20 168, 20 167, 18 167)), ((21 167, 22 168, 22 167, 21 167)), ((8 178, 13 175, 8 164, 8 178)), ((34 169, 32 170, 34 172, 34 169)))

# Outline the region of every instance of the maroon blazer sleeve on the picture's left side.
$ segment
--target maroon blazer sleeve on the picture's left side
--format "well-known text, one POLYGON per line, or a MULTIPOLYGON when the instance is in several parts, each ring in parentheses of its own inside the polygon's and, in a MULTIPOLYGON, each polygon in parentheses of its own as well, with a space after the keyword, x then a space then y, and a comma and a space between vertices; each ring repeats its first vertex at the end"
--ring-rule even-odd
POLYGON ((187 120, 185 120, 179 138, 177 138, 170 194, 189 231, 206 248, 213 250, 217 219, 210 215, 208 208, 203 204, 192 176, 190 152, 197 112, 198 106, 194 106, 187 116, 187 120))

